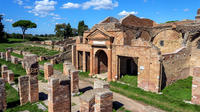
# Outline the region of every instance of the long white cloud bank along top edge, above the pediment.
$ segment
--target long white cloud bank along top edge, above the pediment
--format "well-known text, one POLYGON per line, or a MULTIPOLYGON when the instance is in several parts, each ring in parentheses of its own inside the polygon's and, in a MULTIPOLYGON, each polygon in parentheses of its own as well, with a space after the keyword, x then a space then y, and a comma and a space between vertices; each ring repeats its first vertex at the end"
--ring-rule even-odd
POLYGON ((113 9, 114 7, 118 7, 118 2, 113 0, 89 0, 82 4, 78 3, 71 3, 68 2, 63 4, 61 8, 82 8, 82 9, 89 9, 93 8, 94 10, 100 9, 113 9))

